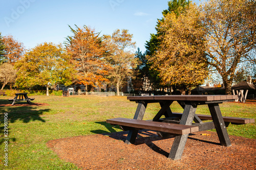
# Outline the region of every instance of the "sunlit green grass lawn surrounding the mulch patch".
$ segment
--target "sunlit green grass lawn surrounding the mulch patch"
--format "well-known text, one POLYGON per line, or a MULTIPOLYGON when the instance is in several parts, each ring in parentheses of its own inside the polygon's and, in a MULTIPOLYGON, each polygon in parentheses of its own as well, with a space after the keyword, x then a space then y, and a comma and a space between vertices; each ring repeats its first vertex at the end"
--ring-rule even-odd
MULTIPOLYGON (((80 135, 117 132, 105 123, 115 117, 133 118, 137 104, 124 96, 29 96, 33 103, 46 106, 0 106, 0 163, 1 169, 78 169, 74 164, 60 160, 47 148, 49 140, 80 135), (8 166, 4 166, 5 137, 4 113, 8 113, 8 166)), ((0 96, 0 104, 9 104, 8 96, 0 96)), ((23 102, 24 103, 24 102, 23 102)), ((223 103, 224 116, 256 119, 256 105, 223 103)), ((152 119, 160 109, 159 104, 148 104, 143 119, 152 119)), ((173 103, 174 112, 182 108, 173 103)), ((199 106, 198 114, 209 114, 207 106, 199 106)), ((255 124, 229 125, 229 135, 256 139, 255 124)))

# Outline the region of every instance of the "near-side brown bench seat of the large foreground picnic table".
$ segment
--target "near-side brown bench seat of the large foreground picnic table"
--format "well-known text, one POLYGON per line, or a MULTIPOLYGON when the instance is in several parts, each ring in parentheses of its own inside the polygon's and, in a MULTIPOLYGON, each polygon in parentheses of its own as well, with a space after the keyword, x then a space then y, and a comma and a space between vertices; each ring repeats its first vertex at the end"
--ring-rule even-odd
POLYGON ((178 135, 189 134, 193 132, 198 132, 199 128, 196 126, 171 124, 164 122, 151 122, 148 120, 130 119, 130 118, 112 118, 107 119, 106 123, 112 125, 119 125, 123 130, 135 129, 148 129, 178 135))

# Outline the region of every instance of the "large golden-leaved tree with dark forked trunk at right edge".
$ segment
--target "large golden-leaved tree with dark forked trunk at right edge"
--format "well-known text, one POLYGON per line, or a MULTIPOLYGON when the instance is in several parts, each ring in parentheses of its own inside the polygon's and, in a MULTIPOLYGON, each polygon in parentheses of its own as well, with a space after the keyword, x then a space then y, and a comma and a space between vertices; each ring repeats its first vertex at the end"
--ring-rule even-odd
POLYGON ((202 6, 209 64, 218 71, 231 94, 235 73, 241 64, 255 67, 256 2, 210 0, 202 6))

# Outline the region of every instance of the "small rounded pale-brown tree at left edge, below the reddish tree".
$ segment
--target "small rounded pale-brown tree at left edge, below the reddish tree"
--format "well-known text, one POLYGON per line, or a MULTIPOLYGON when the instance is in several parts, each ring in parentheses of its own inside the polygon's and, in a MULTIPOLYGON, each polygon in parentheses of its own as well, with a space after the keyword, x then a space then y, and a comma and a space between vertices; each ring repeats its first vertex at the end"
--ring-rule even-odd
POLYGON ((3 90, 8 83, 10 83, 11 86, 12 83, 15 82, 16 72, 12 64, 4 63, 0 66, 0 82, 3 83, 1 90, 3 90))

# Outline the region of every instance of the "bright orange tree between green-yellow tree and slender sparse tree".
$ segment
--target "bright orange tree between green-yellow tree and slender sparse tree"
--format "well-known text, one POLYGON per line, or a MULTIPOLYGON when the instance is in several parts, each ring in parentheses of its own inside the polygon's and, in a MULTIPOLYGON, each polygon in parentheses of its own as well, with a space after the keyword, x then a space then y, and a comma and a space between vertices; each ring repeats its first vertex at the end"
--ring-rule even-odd
MULTIPOLYGON (((70 27, 70 26, 69 26, 70 27)), ((105 78, 107 73, 103 58, 105 47, 102 37, 94 29, 83 28, 71 29, 73 36, 67 37, 66 48, 73 58, 78 75, 77 83, 86 86, 101 86, 108 82, 105 78)))

